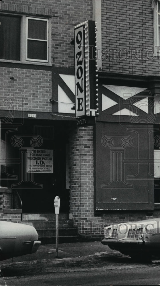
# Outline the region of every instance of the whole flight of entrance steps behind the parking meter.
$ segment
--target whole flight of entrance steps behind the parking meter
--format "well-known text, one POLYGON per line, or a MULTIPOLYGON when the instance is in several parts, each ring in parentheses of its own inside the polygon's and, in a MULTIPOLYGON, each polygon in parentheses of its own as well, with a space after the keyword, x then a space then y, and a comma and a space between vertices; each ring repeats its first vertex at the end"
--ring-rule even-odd
MULTIPOLYGON (((42 244, 56 243, 56 215, 51 213, 23 214, 22 224, 32 225, 42 244)), ((59 243, 79 242, 77 228, 68 214, 59 214, 59 243)))

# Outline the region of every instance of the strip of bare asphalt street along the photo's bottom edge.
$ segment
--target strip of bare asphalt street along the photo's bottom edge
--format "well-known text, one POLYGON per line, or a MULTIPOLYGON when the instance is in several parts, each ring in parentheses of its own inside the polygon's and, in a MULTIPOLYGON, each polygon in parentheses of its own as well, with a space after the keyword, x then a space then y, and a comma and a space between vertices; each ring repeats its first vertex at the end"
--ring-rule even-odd
POLYGON ((94 269, 87 271, 54 272, 23 277, 6 277, 1 285, 8 286, 98 286, 98 285, 159 285, 160 268, 133 267, 115 269, 94 269))

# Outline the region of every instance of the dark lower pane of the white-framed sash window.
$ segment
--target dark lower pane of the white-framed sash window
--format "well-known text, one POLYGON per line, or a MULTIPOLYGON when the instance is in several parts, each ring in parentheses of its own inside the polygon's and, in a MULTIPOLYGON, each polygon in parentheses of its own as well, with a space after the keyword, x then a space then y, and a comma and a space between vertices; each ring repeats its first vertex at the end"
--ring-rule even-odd
POLYGON ((47 60, 47 42, 28 40, 27 58, 47 60))

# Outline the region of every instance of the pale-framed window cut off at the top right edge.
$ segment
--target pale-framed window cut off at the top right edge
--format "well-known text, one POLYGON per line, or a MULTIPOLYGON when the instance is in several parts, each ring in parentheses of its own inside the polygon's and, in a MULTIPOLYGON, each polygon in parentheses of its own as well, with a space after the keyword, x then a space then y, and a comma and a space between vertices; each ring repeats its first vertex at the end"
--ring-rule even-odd
POLYGON ((154 13, 154 55, 160 56, 160 0, 152 1, 154 13))

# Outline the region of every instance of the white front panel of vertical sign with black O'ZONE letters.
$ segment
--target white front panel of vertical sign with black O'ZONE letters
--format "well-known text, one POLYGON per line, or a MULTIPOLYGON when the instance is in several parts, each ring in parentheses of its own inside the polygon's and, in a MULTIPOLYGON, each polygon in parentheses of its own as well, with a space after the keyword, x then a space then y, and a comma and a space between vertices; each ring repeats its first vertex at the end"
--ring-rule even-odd
POLYGON ((84 24, 76 26, 74 29, 76 117, 86 114, 84 37, 84 24))

